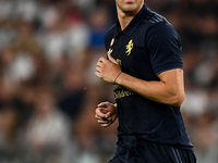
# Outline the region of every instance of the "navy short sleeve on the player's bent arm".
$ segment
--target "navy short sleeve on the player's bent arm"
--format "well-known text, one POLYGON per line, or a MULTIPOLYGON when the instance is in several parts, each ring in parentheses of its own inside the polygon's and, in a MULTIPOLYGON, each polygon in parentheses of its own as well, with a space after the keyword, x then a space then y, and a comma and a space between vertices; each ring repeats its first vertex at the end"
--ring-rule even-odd
POLYGON ((150 26, 145 43, 156 75, 172 68, 183 68, 181 40, 169 23, 161 22, 150 26))

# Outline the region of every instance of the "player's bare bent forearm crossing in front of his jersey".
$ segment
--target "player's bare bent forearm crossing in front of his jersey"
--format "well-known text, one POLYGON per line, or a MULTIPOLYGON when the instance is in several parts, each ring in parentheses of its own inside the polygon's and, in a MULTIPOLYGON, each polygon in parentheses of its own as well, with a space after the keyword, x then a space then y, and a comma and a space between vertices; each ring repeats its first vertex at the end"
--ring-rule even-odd
MULTIPOLYGON (((171 84, 172 82, 146 82, 125 73, 122 73, 117 79, 117 84, 159 103, 180 106, 184 100, 183 86, 177 87, 171 84), (181 90, 180 90, 181 89, 181 90)), ((183 85, 183 78, 178 78, 175 83, 183 85)))

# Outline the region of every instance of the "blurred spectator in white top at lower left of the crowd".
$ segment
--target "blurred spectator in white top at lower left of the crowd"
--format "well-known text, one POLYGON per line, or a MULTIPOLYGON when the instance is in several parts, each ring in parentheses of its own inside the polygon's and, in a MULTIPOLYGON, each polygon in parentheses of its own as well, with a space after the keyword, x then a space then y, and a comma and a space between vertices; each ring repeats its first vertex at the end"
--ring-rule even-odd
POLYGON ((39 87, 35 96, 35 112, 26 129, 27 149, 34 160, 58 163, 70 141, 70 122, 57 109, 52 88, 39 87))

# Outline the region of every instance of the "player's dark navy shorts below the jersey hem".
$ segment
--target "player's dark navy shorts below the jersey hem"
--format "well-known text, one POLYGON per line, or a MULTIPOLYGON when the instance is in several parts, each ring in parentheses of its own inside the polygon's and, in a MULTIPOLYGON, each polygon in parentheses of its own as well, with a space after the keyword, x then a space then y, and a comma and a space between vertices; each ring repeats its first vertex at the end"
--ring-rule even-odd
POLYGON ((193 150, 160 143, 118 141, 116 155, 109 163, 196 163, 193 150))

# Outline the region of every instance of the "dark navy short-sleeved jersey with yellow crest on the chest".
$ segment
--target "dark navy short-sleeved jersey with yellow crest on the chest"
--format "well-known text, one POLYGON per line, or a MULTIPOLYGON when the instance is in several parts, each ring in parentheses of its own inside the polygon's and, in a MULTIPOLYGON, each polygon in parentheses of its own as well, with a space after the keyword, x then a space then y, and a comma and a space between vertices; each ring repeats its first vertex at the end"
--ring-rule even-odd
MULTIPOLYGON (((173 26, 146 5, 123 30, 119 21, 105 36, 108 54, 122 72, 144 80, 159 80, 158 74, 183 68, 181 41, 173 26)), ((180 108, 148 100, 120 85, 113 85, 118 104, 118 136, 192 149, 180 108)))

